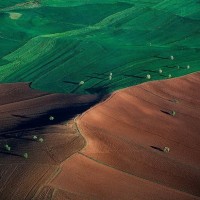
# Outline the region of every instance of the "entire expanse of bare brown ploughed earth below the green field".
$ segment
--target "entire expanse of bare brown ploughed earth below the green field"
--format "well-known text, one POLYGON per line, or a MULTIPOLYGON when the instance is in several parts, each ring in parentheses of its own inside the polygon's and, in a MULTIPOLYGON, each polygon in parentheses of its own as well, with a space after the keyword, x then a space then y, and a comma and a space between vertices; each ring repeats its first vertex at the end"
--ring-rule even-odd
POLYGON ((199 87, 200 73, 149 82, 75 118, 100 97, 0 85, 0 199, 200 199, 199 87))

